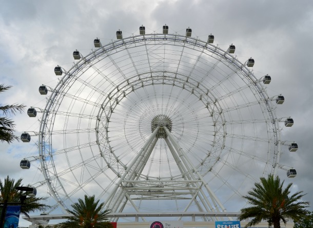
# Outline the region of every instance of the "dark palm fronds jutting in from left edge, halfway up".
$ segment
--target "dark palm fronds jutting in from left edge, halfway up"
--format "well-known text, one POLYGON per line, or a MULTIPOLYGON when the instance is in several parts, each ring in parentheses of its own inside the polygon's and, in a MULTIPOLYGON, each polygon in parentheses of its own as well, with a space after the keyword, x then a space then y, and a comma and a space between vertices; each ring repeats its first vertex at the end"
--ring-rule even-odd
MULTIPOLYGON (((12 86, 4 84, 0 85, 0 93, 8 90, 12 86)), ((0 104, 0 111, 3 112, 3 115, 7 116, 9 113, 15 115, 16 111, 20 113, 24 110, 26 106, 22 104, 12 104, 12 105, 2 105, 0 104)), ((18 140, 17 136, 14 133, 15 124, 12 119, 8 117, 0 117, 0 141, 12 143, 14 140, 18 140)))

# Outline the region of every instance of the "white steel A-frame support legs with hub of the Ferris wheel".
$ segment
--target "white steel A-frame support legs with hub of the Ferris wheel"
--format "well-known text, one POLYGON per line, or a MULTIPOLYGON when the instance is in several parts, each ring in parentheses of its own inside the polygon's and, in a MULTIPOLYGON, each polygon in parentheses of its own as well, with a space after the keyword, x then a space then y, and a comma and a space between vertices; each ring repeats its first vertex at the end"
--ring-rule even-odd
MULTIPOLYGON (((198 212, 226 212, 223 204, 211 191, 208 183, 175 140, 171 133, 171 125, 170 118, 165 115, 153 118, 151 135, 131 161, 106 201, 106 208, 112 213, 122 213, 127 203, 130 203, 134 210, 140 213, 141 209, 134 201, 153 199, 189 200, 182 212, 188 212, 191 205, 196 206, 198 212), (175 164, 181 172, 180 176, 168 179, 150 179, 141 175, 158 140, 166 142, 175 164)), ((144 217, 141 218, 146 221, 144 217)), ((203 220, 219 220, 219 218, 203 217, 203 220)))

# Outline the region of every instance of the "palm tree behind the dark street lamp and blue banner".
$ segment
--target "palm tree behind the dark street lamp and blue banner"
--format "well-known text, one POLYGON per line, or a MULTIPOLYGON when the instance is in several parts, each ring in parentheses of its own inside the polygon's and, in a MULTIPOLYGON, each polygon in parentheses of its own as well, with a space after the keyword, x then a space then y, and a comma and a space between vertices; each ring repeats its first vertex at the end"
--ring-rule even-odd
MULTIPOLYGON (((15 181, 7 176, 4 182, 0 179, 0 202, 20 202, 21 193, 16 190, 16 187, 23 186, 22 178, 15 181)), ((50 208, 50 206, 41 203, 40 201, 45 200, 44 197, 28 196, 24 200, 24 204, 21 207, 21 213, 29 217, 28 213, 34 211, 44 211, 50 208)))

